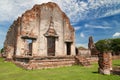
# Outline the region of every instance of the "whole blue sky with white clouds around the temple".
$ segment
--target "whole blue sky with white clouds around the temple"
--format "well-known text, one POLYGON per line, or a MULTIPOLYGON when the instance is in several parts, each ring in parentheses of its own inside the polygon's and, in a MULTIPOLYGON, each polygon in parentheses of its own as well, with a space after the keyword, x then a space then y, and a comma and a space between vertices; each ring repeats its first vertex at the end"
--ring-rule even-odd
POLYGON ((94 41, 120 37, 120 0, 0 0, 0 48, 8 28, 35 4, 56 2, 75 28, 76 46, 87 48, 94 41))

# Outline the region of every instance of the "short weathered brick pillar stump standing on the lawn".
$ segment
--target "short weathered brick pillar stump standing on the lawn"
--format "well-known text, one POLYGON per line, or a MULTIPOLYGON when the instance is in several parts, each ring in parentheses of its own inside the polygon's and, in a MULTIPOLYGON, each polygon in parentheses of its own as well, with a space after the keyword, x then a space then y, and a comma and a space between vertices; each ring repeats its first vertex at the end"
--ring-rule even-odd
POLYGON ((109 52, 100 53, 98 56, 98 71, 101 74, 110 74, 112 70, 112 55, 109 52))

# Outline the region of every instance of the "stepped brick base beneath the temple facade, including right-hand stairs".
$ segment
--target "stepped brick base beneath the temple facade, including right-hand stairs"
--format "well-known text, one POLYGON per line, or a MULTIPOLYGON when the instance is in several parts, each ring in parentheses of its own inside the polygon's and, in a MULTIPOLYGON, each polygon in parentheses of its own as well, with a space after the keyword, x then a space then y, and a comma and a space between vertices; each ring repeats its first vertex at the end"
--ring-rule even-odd
POLYGON ((88 59, 81 56, 14 57, 14 63, 17 66, 28 70, 72 65, 90 65, 88 59))

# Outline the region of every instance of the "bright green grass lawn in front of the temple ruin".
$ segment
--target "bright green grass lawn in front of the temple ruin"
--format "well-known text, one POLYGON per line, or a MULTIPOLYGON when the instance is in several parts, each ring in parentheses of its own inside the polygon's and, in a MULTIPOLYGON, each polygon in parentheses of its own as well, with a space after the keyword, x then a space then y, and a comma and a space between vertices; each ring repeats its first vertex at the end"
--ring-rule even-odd
MULTIPOLYGON (((114 60, 113 66, 120 65, 114 60)), ((101 75, 97 73, 98 65, 90 67, 71 66, 45 70, 24 70, 13 63, 0 58, 0 80, 120 80, 118 75, 101 75)))

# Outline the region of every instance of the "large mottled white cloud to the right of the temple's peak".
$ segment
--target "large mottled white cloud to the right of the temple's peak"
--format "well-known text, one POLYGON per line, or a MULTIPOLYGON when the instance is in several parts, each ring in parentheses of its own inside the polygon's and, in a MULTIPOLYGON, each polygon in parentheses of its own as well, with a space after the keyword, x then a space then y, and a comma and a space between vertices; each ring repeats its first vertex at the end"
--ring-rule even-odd
POLYGON ((66 12, 71 22, 96 19, 120 13, 120 0, 88 0, 88 2, 84 0, 54 1, 56 1, 62 10, 66 12))

